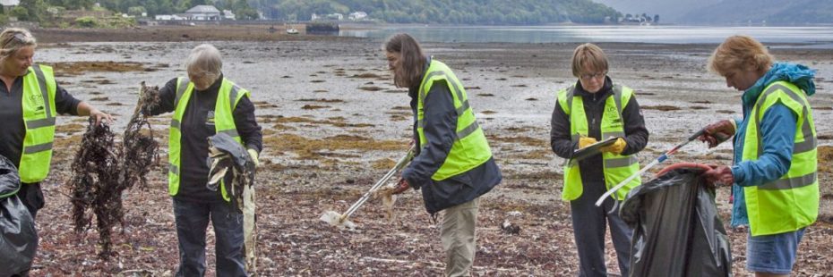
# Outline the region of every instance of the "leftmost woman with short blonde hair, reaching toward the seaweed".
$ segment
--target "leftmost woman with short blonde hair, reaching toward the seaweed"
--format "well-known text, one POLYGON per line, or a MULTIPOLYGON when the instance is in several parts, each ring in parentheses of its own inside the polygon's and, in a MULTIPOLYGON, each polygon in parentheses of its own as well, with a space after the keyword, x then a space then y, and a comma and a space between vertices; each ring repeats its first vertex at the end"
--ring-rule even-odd
POLYGON ((47 178, 59 113, 90 116, 98 124, 112 121, 70 95, 55 80, 52 67, 35 64, 38 43, 26 29, 0 33, 0 155, 12 161, 21 177, 17 197, 32 219, 45 205, 40 182, 47 178))

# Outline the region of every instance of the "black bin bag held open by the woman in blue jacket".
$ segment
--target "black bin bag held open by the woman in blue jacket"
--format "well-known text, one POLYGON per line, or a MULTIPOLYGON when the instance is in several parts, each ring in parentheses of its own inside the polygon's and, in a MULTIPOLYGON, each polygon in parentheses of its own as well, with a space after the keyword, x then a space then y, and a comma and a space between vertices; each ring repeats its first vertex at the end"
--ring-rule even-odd
POLYGON ((701 172, 677 168, 625 198, 620 215, 633 228, 631 276, 729 276, 726 229, 701 172))

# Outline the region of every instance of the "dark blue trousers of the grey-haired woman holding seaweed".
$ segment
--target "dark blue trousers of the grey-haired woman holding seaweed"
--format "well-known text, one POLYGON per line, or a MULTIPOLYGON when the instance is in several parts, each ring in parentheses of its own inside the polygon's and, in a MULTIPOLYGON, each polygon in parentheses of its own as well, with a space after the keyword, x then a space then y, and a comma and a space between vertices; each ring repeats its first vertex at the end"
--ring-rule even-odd
POLYGON ((205 275, 205 230, 209 219, 216 237, 217 276, 246 276, 243 214, 226 202, 202 203, 174 198, 179 270, 176 276, 205 275))

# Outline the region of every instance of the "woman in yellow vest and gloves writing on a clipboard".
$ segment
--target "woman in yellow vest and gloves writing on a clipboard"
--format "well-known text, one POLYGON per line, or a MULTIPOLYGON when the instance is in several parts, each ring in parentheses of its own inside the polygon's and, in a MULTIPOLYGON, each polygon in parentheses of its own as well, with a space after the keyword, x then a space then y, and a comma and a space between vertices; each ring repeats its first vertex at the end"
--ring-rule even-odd
POLYGON ((578 80, 557 94, 552 117, 550 143, 555 155, 571 159, 576 149, 603 139, 614 144, 578 163, 564 168, 562 199, 570 201, 572 231, 579 252, 580 276, 606 276, 605 231, 610 225, 618 256, 619 272, 628 276, 631 256, 631 228, 614 209, 614 198, 623 200, 640 179, 631 180, 602 206, 595 202, 607 189, 640 169, 636 153, 648 143, 648 130, 628 87, 614 84, 607 76, 605 52, 596 45, 583 44, 572 55, 572 75, 578 80), (606 223, 605 223, 606 220, 606 223))

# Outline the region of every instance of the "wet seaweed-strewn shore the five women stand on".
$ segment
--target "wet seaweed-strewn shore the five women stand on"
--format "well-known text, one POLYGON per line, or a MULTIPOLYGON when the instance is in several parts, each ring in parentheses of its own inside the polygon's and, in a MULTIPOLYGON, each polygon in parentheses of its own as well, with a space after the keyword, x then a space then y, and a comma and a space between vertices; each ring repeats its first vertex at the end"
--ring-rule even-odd
MULTIPOLYGON (((57 80, 75 97, 114 113, 116 132, 133 111, 139 83, 163 86, 185 75, 188 51, 203 42, 224 55, 224 73, 252 91, 264 129, 259 169, 259 228, 263 276, 437 275, 443 255, 439 230, 418 193, 400 197, 398 219, 383 218, 381 202, 356 213, 359 232, 318 221, 343 212, 408 147, 411 113, 405 90, 395 88, 381 41, 277 35, 268 26, 158 27, 122 30, 36 30, 36 63, 56 66, 57 80)), ((448 63, 466 86, 504 180, 482 202, 477 275, 575 275, 577 260, 569 206, 560 200, 562 176, 549 149, 549 120, 558 89, 575 81, 570 56, 577 44, 425 43, 428 55, 448 63), (520 212, 520 213, 516 213, 520 212), (518 235, 500 224, 520 226, 518 235)), ((651 137, 642 164, 717 119, 742 116, 740 93, 704 70, 715 45, 599 44, 610 57, 615 83, 634 88, 651 137)), ((822 213, 805 235, 796 275, 833 272, 830 199, 833 144, 833 55, 830 50, 774 49, 778 59, 819 70, 812 99, 820 138, 822 213)), ((120 256, 95 256, 98 234, 72 228, 67 173, 86 122, 59 118, 52 172, 44 183, 47 206, 39 214, 41 243, 35 275, 176 272, 176 227, 167 196, 167 122, 153 119, 162 161, 150 188, 125 197, 124 233, 114 236, 120 256)), ((671 162, 731 164, 731 147, 708 150, 692 143, 671 162)), ((659 168, 657 168, 658 170, 659 168)), ((656 171, 655 171, 656 172, 656 171)), ((645 180, 648 176, 644 176, 645 180)), ((728 189, 718 192, 728 222, 728 189)), ((728 227, 728 226, 727 226, 728 227)), ((122 231, 117 229, 116 231, 122 231)), ((745 275, 745 230, 729 229, 734 273, 745 275)), ((209 232, 209 273, 213 237, 209 232)), ((612 245, 607 263, 617 272, 612 245)))

